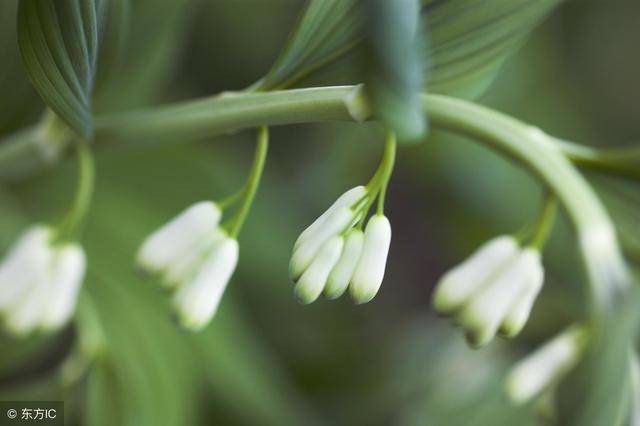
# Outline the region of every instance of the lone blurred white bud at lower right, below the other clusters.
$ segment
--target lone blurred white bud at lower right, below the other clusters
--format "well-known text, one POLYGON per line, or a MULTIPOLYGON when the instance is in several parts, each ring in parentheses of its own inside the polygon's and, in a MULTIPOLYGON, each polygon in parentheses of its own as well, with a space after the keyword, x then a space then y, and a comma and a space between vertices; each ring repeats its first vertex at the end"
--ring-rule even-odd
POLYGON ((511 402, 524 404, 560 381, 578 363, 586 338, 585 328, 572 326, 520 361, 505 382, 511 402))

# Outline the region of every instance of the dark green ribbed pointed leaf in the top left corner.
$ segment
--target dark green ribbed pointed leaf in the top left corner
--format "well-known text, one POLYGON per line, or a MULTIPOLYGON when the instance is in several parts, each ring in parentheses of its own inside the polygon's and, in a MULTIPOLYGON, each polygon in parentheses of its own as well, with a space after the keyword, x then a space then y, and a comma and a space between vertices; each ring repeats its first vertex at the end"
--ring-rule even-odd
POLYGON ((92 135, 100 7, 98 0, 29 0, 18 8, 27 76, 45 103, 85 138, 92 135))

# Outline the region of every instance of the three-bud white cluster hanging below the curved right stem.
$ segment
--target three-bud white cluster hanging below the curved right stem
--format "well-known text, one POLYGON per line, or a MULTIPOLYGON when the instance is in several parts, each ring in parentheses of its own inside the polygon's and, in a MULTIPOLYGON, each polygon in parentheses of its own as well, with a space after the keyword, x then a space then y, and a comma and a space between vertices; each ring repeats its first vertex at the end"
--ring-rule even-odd
POLYGON ((500 332, 513 337, 524 328, 542 288, 540 252, 515 238, 495 238, 442 277, 434 306, 464 328, 475 347, 500 332))

